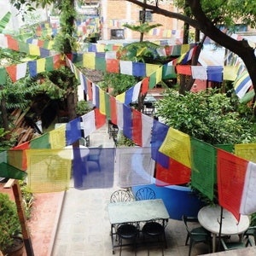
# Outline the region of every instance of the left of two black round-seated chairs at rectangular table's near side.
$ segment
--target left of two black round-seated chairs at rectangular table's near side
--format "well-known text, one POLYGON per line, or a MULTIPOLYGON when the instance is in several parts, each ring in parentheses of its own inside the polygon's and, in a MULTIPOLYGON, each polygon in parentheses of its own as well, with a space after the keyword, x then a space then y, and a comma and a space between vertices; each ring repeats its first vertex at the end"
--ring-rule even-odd
POLYGON ((119 255, 122 254, 122 247, 127 245, 133 245, 135 255, 137 255, 136 239, 139 235, 139 229, 137 223, 125 223, 119 224, 117 228, 117 236, 119 237, 119 255), (123 240, 131 241, 131 244, 123 244, 123 240))

